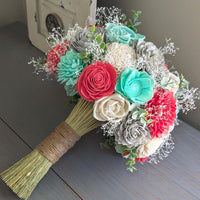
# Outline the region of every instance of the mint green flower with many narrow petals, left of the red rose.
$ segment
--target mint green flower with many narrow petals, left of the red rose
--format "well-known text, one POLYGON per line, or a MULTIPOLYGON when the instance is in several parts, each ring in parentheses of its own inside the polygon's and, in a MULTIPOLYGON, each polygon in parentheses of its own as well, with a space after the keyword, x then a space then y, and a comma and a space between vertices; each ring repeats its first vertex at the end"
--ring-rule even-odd
POLYGON ((78 77, 85 67, 86 64, 83 63, 82 59, 73 50, 67 51, 65 56, 61 56, 57 69, 58 81, 65 83, 65 89, 68 95, 75 93, 71 89, 75 88, 78 77))

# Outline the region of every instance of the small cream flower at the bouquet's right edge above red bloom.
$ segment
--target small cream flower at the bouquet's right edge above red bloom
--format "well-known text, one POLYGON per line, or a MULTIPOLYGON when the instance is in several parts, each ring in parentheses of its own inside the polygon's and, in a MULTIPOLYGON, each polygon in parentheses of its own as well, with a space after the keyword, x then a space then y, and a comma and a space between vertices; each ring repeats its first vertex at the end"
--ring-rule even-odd
POLYGON ((169 72, 167 76, 165 76, 162 81, 161 85, 163 89, 169 90, 174 94, 178 91, 180 84, 180 79, 178 76, 174 75, 173 73, 169 72))

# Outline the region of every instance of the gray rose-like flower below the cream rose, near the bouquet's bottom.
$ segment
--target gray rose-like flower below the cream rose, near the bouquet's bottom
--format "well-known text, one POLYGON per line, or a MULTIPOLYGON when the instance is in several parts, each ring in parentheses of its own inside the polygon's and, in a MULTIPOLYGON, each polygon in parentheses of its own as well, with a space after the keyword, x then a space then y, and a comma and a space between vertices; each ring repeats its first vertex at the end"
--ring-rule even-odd
POLYGON ((127 147, 137 147, 151 138, 148 127, 144 126, 140 121, 132 119, 132 113, 118 125, 114 132, 115 140, 118 144, 127 147))

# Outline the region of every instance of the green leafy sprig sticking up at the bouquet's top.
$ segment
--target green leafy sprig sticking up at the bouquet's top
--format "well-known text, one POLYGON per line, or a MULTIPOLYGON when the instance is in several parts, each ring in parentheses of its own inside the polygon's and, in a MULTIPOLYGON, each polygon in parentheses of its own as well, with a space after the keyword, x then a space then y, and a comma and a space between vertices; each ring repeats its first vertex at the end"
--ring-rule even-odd
POLYGON ((140 21, 138 21, 139 16, 142 14, 142 11, 135 11, 131 10, 132 18, 127 20, 127 17, 125 14, 122 14, 121 21, 124 26, 128 26, 133 31, 137 32, 137 26, 141 24, 140 21))

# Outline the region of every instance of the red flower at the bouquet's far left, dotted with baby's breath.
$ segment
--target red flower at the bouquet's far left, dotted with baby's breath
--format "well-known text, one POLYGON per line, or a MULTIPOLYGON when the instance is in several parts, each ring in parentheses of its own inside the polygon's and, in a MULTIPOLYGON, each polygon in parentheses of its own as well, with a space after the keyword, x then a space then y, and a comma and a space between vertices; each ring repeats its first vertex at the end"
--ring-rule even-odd
POLYGON ((55 74, 58 68, 58 63, 60 62, 60 57, 64 56, 69 50, 68 42, 64 41, 60 44, 54 46, 47 55, 47 67, 52 74, 55 74))

